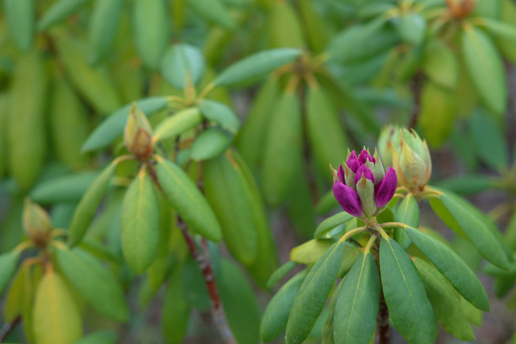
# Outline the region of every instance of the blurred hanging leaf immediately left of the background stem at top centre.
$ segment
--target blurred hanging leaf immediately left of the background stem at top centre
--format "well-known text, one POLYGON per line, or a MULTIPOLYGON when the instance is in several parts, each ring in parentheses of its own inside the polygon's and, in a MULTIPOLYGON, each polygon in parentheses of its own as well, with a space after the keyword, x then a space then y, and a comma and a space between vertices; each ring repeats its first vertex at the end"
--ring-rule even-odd
POLYGON ((270 121, 264 147, 262 184, 266 201, 278 206, 294 187, 302 154, 301 108, 297 94, 283 93, 270 121))

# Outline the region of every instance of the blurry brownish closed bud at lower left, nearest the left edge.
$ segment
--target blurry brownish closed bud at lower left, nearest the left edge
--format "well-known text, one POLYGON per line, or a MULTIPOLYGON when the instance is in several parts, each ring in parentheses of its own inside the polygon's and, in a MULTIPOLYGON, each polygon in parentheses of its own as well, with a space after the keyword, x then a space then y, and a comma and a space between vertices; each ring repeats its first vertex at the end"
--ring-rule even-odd
POLYGON ((25 198, 22 223, 25 233, 36 245, 46 245, 52 231, 52 222, 50 222, 48 213, 29 198, 25 198))

